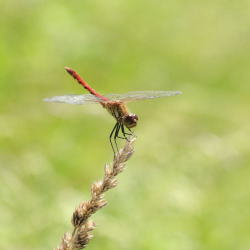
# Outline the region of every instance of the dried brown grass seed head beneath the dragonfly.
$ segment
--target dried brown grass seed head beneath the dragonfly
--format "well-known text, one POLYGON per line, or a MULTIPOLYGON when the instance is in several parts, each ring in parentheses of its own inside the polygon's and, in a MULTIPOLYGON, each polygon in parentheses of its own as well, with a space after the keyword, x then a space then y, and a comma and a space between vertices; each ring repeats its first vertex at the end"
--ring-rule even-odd
POLYGON ((115 156, 112 164, 105 165, 103 180, 95 182, 91 186, 91 200, 81 202, 73 213, 71 221, 74 231, 72 235, 65 234, 61 245, 56 250, 83 249, 93 238, 92 231, 95 224, 89 220, 89 217, 107 204, 104 193, 117 185, 115 177, 124 170, 126 161, 133 154, 134 141, 135 138, 132 138, 126 142, 123 149, 115 156))

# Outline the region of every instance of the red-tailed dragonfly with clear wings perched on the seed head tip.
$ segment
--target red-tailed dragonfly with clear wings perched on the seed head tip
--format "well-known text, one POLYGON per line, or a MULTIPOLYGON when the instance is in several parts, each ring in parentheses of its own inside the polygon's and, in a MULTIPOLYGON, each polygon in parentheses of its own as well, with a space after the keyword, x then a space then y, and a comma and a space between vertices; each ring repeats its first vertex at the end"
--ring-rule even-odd
POLYGON ((130 136, 134 136, 132 128, 136 127, 138 123, 138 116, 129 112, 126 103, 181 94, 180 91, 131 91, 126 94, 101 95, 90 87, 90 85, 76 71, 69 67, 65 67, 65 70, 90 94, 54 96, 51 98, 45 98, 44 101, 80 105, 88 103, 101 104, 101 106, 106 109, 116 121, 109 135, 109 141, 114 156, 119 152, 117 138, 129 140, 130 136), (122 134, 120 134, 120 132, 122 134))

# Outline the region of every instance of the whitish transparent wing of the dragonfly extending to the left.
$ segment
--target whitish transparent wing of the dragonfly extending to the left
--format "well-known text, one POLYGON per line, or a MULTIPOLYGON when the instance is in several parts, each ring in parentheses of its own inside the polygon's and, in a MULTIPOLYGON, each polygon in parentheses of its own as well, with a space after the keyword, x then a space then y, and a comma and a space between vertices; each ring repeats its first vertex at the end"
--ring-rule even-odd
POLYGON ((69 103, 69 104, 87 104, 87 103, 98 103, 102 100, 94 95, 63 95, 63 96, 54 96, 51 98, 45 98, 45 102, 60 102, 60 103, 69 103))

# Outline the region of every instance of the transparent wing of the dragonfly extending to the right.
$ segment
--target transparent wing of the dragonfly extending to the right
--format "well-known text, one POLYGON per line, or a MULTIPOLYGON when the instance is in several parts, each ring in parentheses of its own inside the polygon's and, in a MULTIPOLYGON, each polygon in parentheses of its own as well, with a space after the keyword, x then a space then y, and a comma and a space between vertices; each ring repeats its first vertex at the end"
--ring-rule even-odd
POLYGON ((180 91, 132 91, 126 94, 108 94, 104 95, 105 97, 111 99, 112 101, 123 101, 130 102, 134 100, 145 100, 145 99, 154 99, 167 96, 180 95, 180 91))

